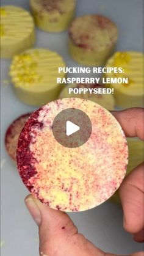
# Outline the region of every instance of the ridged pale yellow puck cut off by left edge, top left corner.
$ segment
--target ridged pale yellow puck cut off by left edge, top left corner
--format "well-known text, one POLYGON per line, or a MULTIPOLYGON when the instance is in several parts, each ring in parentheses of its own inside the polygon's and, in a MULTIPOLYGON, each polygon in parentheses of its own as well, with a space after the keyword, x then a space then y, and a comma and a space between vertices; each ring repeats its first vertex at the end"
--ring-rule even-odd
POLYGON ((5 5, 1 7, 1 57, 12 58, 31 48, 35 42, 34 20, 26 10, 5 5))

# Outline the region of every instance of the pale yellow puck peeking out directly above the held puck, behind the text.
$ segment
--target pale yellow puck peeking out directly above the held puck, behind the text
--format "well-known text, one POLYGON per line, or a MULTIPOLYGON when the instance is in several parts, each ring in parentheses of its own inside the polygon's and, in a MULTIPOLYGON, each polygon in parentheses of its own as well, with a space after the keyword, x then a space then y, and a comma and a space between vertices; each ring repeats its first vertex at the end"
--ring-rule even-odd
POLYGON ((68 93, 68 89, 69 88, 77 88, 81 87, 89 87, 92 88, 92 85, 88 85, 88 84, 81 84, 81 85, 77 85, 77 84, 70 84, 69 86, 65 86, 62 90, 62 92, 60 92, 59 98, 85 98, 87 100, 92 100, 95 103, 98 103, 99 105, 103 106, 103 108, 106 108, 108 110, 113 110, 115 108, 115 100, 113 98, 112 94, 90 94, 89 92, 87 93, 82 93, 82 94, 74 94, 74 93, 68 93))

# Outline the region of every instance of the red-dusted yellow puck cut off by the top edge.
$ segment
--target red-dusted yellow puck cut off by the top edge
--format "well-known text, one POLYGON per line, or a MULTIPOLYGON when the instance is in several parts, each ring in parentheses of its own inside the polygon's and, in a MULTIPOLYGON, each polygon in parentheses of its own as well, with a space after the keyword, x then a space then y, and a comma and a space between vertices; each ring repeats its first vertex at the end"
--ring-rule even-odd
POLYGON ((68 29, 73 20, 76 0, 31 0, 31 10, 36 25, 48 32, 61 32, 68 29))

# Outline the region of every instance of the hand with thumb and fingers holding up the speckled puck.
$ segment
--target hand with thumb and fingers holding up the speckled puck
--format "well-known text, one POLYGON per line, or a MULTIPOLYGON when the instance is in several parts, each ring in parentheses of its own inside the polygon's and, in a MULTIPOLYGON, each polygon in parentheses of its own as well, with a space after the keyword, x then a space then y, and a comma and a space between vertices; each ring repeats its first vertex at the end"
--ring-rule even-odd
MULTIPOLYGON (((114 111, 112 114, 123 127, 127 137, 143 139, 143 109, 114 111)), ((124 229, 134 234, 134 240, 143 241, 143 165, 131 172, 120 186, 124 211, 124 229)), ((26 206, 39 227, 40 256, 110 256, 96 248, 83 235, 66 213, 52 210, 29 195, 26 206)), ((137 252, 132 256, 143 256, 137 252)))

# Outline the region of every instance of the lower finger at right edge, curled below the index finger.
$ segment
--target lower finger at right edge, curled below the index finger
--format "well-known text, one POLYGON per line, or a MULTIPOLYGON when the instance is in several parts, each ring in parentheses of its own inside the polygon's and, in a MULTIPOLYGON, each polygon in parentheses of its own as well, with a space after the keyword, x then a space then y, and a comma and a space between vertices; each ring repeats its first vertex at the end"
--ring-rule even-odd
POLYGON ((137 234, 135 239, 143 241, 143 164, 136 167, 123 181, 119 189, 124 211, 124 229, 137 234))

